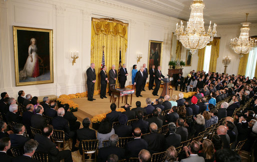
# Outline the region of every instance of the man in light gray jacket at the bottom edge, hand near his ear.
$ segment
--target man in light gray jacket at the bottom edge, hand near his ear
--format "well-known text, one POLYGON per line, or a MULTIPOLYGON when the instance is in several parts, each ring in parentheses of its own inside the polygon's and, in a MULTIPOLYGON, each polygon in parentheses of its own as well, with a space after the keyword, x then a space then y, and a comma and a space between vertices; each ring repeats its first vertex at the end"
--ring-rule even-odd
POLYGON ((196 140, 191 141, 191 143, 189 144, 189 149, 187 148, 187 146, 184 146, 184 151, 187 158, 182 159, 181 162, 204 162, 204 158, 198 156, 197 154, 199 150, 200 145, 198 144, 198 142, 196 140), (188 150, 190 152, 190 155, 188 154, 188 150))

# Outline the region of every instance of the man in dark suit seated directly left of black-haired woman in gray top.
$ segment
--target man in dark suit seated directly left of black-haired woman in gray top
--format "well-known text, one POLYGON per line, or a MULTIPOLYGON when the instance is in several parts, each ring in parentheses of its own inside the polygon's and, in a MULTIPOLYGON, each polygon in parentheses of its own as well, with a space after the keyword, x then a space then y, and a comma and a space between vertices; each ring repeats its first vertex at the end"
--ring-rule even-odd
POLYGON ((82 154, 81 140, 96 139, 95 130, 89 128, 90 119, 88 117, 83 119, 82 125, 83 128, 76 130, 77 139, 79 140, 78 148, 80 154, 82 154))

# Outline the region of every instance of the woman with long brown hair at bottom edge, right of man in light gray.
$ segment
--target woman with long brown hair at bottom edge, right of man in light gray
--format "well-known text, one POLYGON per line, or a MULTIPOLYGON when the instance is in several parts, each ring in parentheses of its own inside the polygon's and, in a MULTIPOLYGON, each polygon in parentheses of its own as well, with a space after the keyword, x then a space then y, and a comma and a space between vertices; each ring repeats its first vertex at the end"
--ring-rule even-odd
POLYGON ((212 141, 209 139, 204 139, 200 144, 202 149, 197 154, 202 156, 207 162, 214 161, 214 146, 212 141))

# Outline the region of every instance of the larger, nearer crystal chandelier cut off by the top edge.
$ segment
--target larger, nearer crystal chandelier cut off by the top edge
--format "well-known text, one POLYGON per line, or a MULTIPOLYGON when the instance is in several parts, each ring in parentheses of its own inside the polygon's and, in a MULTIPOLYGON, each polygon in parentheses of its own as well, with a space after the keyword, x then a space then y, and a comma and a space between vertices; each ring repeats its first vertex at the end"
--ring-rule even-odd
POLYGON ((197 49, 201 49, 206 46, 206 44, 213 40, 213 36, 216 34, 216 24, 213 24, 213 30, 211 30, 209 22, 209 27, 207 33, 204 29, 203 21, 203 0, 193 0, 191 3, 191 13, 190 18, 187 21, 187 26, 184 30, 183 22, 177 26, 175 35, 177 40, 179 40, 185 48, 190 48, 190 52, 193 55, 196 53, 197 49))

